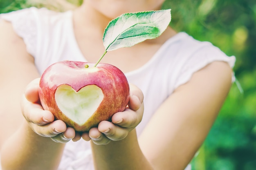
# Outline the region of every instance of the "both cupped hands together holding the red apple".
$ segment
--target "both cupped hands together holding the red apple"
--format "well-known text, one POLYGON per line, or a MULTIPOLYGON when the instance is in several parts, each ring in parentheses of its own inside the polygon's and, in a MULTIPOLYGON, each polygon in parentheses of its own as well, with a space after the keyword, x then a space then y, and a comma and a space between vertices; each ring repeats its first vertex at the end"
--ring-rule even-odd
POLYGON ((51 137, 52 140, 66 143, 71 139, 78 141, 81 136, 86 141, 92 139, 95 144, 107 144, 111 140, 120 140, 128 135, 142 119, 143 93, 130 84, 130 100, 124 112, 118 112, 112 117, 112 122, 101 121, 98 128, 92 128, 89 132, 76 132, 74 128, 67 127, 62 120, 54 120, 54 115, 48 110, 43 110, 40 105, 39 79, 33 80, 26 88, 22 98, 22 114, 30 128, 38 135, 51 137))

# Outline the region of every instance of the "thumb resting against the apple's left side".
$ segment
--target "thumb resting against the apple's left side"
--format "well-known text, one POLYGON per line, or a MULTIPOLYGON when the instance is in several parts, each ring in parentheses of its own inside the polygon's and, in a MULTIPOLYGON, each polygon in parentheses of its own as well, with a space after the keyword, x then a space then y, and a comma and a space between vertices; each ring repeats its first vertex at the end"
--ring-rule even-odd
POLYGON ((37 103, 39 101, 38 88, 40 78, 31 81, 25 89, 25 97, 29 102, 37 103))

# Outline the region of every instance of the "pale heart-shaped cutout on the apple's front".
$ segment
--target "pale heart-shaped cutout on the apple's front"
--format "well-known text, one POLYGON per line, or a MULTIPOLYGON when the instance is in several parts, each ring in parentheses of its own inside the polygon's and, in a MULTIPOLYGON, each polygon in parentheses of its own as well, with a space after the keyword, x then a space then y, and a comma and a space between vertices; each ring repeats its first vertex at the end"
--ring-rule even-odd
POLYGON ((83 125, 97 110, 103 100, 101 88, 88 85, 76 92, 63 84, 55 92, 55 101, 61 112, 79 125, 83 125))

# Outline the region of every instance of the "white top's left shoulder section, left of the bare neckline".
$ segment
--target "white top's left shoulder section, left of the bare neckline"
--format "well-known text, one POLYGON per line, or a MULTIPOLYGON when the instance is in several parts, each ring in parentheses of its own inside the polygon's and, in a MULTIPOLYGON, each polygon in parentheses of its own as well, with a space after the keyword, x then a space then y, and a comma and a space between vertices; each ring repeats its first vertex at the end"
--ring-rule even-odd
POLYGON ((59 13, 31 7, 1 14, 0 19, 11 22, 16 34, 25 42, 27 52, 34 57, 40 74, 54 62, 74 58, 69 44, 70 34, 73 35, 72 11, 59 13))

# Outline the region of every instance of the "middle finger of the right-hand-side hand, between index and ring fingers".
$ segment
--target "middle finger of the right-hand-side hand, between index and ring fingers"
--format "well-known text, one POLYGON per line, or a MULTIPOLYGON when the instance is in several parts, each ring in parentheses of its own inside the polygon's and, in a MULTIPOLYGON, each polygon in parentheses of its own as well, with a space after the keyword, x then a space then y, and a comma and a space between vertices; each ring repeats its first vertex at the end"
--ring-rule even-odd
POLYGON ((108 139, 112 141, 119 141, 124 139, 130 130, 128 128, 121 128, 115 124, 112 124, 109 121, 101 121, 98 126, 99 132, 102 132, 108 139))

